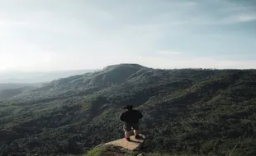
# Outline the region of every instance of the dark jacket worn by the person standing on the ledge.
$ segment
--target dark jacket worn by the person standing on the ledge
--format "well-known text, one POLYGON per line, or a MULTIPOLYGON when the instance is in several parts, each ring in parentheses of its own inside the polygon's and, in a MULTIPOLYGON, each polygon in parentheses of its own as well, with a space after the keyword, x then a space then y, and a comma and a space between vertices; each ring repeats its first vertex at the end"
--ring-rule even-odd
POLYGON ((127 110, 126 112, 122 112, 120 120, 126 123, 138 123, 142 117, 143 115, 140 111, 131 109, 127 110))

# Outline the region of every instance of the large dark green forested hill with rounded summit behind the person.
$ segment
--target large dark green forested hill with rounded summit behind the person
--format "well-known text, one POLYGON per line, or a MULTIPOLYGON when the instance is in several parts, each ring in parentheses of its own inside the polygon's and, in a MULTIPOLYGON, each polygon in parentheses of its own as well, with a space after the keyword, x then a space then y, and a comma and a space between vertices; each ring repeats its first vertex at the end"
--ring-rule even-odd
POLYGON ((136 64, 54 80, 0 102, 0 155, 83 154, 123 137, 126 104, 145 115, 140 150, 256 154, 256 71, 136 64))

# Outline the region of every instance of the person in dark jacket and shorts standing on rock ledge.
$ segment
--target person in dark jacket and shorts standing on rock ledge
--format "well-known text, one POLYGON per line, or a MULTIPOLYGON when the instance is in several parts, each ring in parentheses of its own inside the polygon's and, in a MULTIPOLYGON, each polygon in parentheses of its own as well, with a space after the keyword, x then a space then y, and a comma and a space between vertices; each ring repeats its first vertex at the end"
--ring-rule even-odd
POLYGON ((123 129, 125 131, 126 140, 130 141, 130 131, 131 127, 135 133, 135 139, 140 139, 139 136, 139 121, 143 117, 142 113, 139 110, 133 109, 133 105, 127 105, 124 107, 126 112, 122 112, 120 120, 124 123, 123 129))

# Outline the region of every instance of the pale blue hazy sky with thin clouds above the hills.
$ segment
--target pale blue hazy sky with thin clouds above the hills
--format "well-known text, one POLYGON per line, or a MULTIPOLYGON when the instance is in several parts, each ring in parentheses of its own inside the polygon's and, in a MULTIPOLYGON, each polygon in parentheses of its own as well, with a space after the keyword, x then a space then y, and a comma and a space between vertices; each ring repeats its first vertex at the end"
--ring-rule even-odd
POLYGON ((0 0, 0 71, 256 68, 254 0, 0 0))

